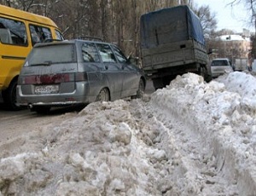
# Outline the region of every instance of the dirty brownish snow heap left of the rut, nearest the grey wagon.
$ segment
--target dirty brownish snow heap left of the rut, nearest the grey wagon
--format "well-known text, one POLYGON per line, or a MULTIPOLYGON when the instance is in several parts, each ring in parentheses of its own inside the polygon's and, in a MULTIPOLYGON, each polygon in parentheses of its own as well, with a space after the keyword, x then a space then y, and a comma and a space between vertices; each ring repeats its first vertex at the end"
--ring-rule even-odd
POLYGON ((143 142, 152 143, 154 133, 137 139, 140 130, 147 132, 147 124, 139 125, 129 106, 127 101, 90 104, 77 117, 30 135, 21 147, 24 153, 1 159, 2 193, 160 194, 155 182, 160 166, 154 164, 165 162, 166 154, 143 142))

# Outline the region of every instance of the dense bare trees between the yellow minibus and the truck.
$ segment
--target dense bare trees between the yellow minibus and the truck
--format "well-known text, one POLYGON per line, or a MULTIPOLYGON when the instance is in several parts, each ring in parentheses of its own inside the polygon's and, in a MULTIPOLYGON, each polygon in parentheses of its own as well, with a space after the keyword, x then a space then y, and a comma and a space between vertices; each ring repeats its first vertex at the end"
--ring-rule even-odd
MULTIPOLYGON (((190 0, 192 1, 192 0, 190 0)), ((138 56, 140 16, 189 0, 0 0, 16 9, 48 16, 67 39, 102 37, 117 43, 125 54, 138 56)))

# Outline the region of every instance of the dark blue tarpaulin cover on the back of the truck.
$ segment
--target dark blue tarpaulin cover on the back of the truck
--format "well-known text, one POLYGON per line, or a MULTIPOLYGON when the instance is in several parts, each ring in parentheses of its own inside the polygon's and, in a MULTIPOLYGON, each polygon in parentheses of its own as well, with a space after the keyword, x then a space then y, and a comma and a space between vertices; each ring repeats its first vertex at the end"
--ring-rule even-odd
POLYGON ((205 45, 201 22, 188 6, 160 9, 141 16, 141 47, 194 39, 205 45))

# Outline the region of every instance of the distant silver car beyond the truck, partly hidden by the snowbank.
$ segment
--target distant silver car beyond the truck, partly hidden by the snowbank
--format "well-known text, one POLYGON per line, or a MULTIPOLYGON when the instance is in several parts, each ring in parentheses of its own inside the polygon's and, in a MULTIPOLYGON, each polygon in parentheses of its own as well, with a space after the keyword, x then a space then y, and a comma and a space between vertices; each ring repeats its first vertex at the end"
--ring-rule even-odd
POLYGON ((212 78, 217 78, 218 76, 226 72, 234 72, 233 66, 229 59, 213 59, 211 63, 212 78))

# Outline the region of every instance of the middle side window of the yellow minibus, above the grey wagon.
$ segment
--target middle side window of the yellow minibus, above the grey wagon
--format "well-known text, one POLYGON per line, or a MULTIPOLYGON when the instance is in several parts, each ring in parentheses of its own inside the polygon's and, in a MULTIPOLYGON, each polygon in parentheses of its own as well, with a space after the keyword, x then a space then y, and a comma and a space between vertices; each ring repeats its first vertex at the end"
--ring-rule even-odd
POLYGON ((52 39, 50 29, 44 26, 29 26, 32 45, 36 43, 43 43, 46 39, 52 39))

